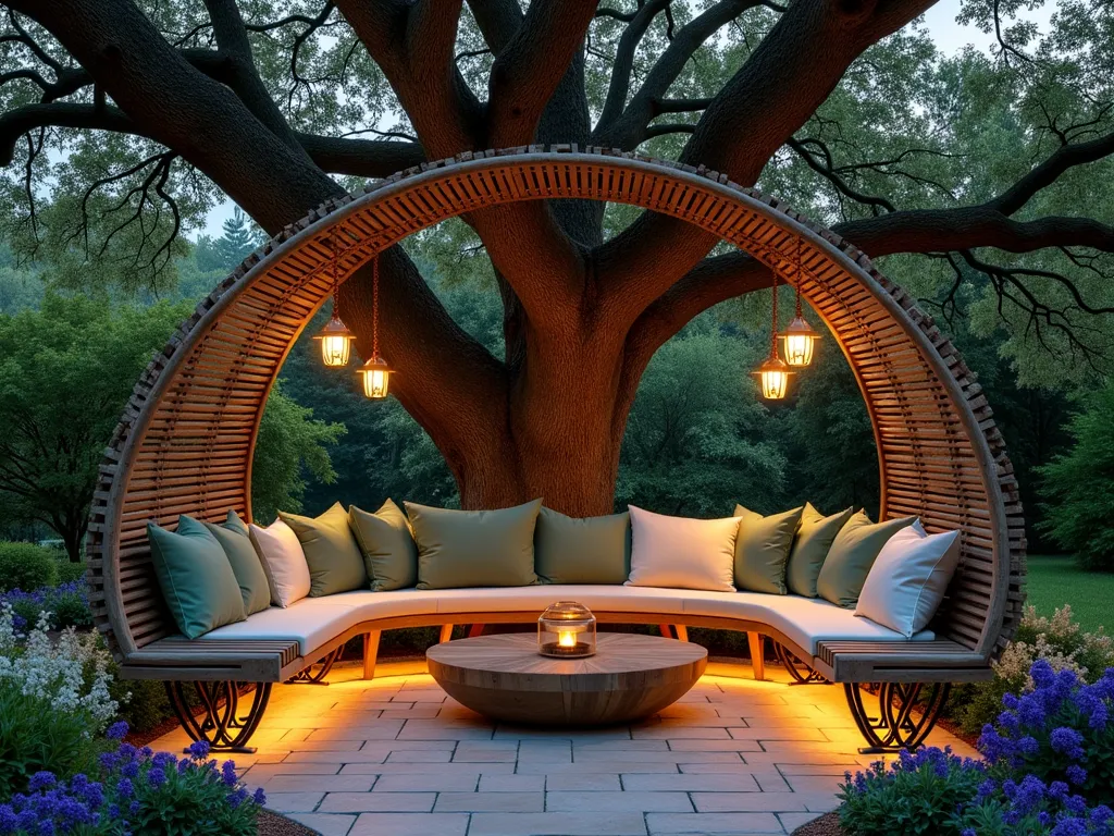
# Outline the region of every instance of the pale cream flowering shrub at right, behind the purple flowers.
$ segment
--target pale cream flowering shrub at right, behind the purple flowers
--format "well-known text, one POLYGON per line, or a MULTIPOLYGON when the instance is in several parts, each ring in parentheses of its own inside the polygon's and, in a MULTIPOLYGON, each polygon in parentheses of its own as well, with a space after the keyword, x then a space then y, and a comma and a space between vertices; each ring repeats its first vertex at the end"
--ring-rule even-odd
POLYGON ((1038 616, 1032 606, 1025 607, 1014 641, 994 667, 994 679, 956 689, 950 703, 957 707, 955 718, 962 730, 978 735, 997 718, 1005 694, 1032 688, 1029 670, 1038 660, 1048 662, 1054 671, 1072 670, 1094 682, 1114 667, 1114 640, 1101 631, 1084 632, 1072 620, 1069 605, 1051 619, 1038 616))

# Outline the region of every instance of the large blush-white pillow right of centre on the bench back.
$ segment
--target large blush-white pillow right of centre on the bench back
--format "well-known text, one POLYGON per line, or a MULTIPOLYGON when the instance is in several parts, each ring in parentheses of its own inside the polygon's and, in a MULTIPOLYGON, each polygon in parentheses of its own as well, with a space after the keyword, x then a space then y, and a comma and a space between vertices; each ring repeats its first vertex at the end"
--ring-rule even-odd
POLYGON ((690 519, 631 506, 627 586, 734 592, 739 517, 690 519))

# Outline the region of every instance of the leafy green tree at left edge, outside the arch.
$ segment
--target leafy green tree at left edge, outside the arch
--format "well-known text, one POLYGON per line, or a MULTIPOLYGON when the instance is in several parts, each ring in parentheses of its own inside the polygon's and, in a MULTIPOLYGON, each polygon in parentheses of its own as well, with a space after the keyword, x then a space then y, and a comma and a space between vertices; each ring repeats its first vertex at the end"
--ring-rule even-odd
POLYGON ((105 445, 139 372, 183 305, 131 305, 48 293, 0 315, 0 496, 58 533, 78 560, 105 445))

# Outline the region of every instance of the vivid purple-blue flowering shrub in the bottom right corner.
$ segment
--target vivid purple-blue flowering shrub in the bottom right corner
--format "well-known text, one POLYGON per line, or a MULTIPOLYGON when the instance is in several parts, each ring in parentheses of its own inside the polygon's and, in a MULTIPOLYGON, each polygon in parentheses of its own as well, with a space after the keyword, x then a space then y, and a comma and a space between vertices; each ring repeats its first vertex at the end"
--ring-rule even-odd
POLYGON ((857 836, 1114 836, 1114 668, 1087 683, 1034 662, 1032 687, 1008 693, 978 748, 903 752, 847 776, 840 823, 857 836))

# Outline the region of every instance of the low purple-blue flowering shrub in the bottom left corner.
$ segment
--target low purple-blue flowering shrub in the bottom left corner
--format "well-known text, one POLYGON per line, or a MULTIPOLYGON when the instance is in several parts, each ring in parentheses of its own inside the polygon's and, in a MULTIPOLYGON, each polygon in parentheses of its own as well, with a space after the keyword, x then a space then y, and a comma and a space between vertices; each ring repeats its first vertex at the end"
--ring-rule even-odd
MULTIPOLYGON (((116 739, 126 723, 109 729, 116 739)), ((236 766, 208 759, 208 743, 188 758, 121 743, 100 757, 97 780, 85 774, 60 780, 49 771, 31 777, 28 791, 0 805, 0 834, 80 836, 254 836, 263 790, 248 795, 236 766)))

